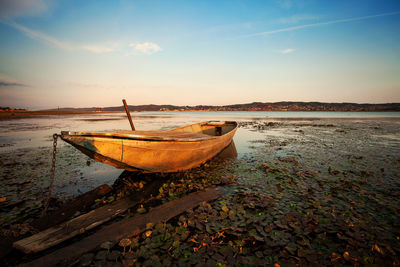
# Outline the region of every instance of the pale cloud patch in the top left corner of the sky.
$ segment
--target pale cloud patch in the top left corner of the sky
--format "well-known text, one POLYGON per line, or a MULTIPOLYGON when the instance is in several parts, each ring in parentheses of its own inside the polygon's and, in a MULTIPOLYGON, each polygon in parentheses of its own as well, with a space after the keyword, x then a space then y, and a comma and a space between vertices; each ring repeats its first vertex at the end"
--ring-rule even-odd
POLYGON ((0 17, 10 19, 39 15, 49 10, 49 0, 1 0, 0 17))

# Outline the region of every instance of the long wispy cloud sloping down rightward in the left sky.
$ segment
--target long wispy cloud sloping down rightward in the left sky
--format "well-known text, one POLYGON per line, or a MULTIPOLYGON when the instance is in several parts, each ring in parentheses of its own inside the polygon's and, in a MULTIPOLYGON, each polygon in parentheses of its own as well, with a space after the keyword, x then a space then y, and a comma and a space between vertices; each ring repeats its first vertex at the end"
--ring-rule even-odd
POLYGON ((18 23, 15 23, 13 21, 8 21, 8 22, 6 22, 6 24, 19 30, 20 32, 22 32, 23 34, 28 36, 29 38, 50 44, 50 45, 55 46, 62 50, 81 50, 81 51, 88 51, 88 52, 95 53, 95 54, 109 53, 109 52, 112 52, 115 50, 115 47, 114 47, 115 45, 114 46, 104 46, 104 45, 92 45, 92 44, 85 44, 85 45, 72 44, 69 42, 60 41, 57 38, 54 38, 53 36, 47 35, 45 33, 29 29, 18 23))

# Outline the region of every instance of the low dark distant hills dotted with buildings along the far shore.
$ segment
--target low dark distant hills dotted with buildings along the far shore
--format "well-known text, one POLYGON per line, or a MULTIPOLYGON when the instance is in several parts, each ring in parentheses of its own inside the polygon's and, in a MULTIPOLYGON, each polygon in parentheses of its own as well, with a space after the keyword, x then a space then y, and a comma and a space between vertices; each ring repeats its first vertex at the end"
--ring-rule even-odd
MULTIPOLYGON (((400 103, 357 104, 323 102, 253 102, 226 106, 174 106, 174 105, 129 105, 131 111, 400 111, 400 103)), ((124 107, 60 108, 46 111, 124 111, 124 107)))

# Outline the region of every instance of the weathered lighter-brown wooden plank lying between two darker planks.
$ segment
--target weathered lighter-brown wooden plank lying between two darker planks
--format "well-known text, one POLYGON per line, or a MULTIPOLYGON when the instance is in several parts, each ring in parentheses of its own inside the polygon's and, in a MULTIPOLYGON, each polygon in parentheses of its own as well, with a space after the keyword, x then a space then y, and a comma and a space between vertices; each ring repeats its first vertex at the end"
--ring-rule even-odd
POLYGON ((115 218, 137 203, 129 198, 121 199, 112 205, 97 208, 65 223, 21 239, 15 242, 13 247, 25 253, 36 253, 48 249, 115 218))

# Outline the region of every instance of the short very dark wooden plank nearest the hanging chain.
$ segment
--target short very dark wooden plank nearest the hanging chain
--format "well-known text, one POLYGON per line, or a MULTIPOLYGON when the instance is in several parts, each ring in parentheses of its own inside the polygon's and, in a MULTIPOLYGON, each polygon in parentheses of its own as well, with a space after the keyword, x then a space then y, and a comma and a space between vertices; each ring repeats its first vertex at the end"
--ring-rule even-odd
POLYGON ((77 211, 82 211, 88 208, 93 202, 103 197, 112 190, 107 184, 100 185, 93 190, 90 190, 71 201, 62 205, 58 210, 47 214, 44 217, 35 219, 30 225, 40 231, 57 225, 73 216, 77 211))

